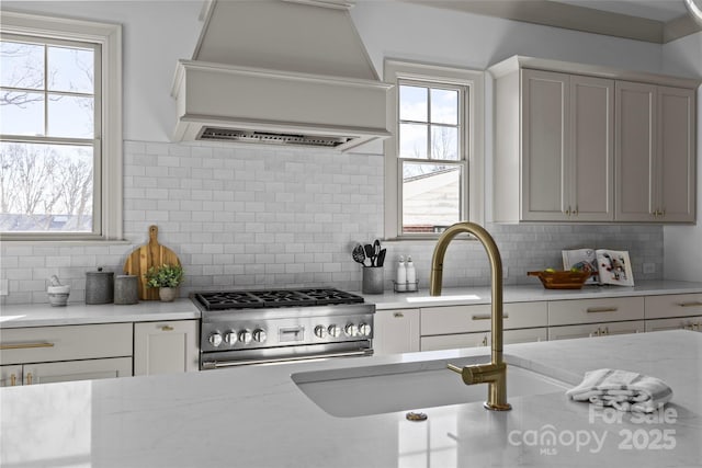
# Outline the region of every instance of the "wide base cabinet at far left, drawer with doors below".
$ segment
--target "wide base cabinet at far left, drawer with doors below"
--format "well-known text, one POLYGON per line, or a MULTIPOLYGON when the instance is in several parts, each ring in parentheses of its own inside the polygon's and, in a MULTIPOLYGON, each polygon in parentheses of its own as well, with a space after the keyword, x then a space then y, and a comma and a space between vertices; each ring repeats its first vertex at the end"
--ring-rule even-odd
POLYGON ((2 385, 131 376, 132 346, 132 323, 5 329, 2 385))

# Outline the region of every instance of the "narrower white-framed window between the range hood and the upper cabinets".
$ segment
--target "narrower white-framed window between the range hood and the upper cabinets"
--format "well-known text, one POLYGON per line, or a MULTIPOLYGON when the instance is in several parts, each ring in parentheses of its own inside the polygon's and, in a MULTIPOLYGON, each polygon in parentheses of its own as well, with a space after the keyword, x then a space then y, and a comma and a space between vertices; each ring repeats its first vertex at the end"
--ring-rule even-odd
POLYGON ((385 146, 386 238, 434 238, 482 220, 483 73, 387 60, 394 138, 385 146))

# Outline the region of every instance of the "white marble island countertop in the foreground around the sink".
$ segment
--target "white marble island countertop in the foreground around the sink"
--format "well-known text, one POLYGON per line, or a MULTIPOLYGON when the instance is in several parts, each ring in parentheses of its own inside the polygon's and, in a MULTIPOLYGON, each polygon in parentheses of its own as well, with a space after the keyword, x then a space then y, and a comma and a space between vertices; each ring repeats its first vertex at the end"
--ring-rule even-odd
MULTIPOLYGON (((336 418, 291 375, 453 361, 485 350, 246 366, 0 388, 0 465, 100 467, 690 467, 702 464, 702 333, 666 331, 506 346, 508 362, 577 384, 600 367, 642 372, 675 391, 644 422, 598 413, 563 391, 336 418), (672 411, 672 413, 670 412, 672 411), (555 436, 553 444, 544 435, 555 436), (599 441, 599 442, 598 442, 599 441)), ((446 370, 448 372, 448 370, 446 370)), ((458 378, 458 376, 456 376, 458 378)), ((508 373, 509 386, 509 373, 508 373)))

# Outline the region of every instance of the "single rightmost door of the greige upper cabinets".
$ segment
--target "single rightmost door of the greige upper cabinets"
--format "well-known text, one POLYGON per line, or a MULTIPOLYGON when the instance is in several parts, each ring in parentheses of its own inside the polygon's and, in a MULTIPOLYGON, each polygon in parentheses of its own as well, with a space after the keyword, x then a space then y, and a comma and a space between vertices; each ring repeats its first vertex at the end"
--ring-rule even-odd
POLYGON ((694 222, 694 90, 658 87, 657 217, 694 222))

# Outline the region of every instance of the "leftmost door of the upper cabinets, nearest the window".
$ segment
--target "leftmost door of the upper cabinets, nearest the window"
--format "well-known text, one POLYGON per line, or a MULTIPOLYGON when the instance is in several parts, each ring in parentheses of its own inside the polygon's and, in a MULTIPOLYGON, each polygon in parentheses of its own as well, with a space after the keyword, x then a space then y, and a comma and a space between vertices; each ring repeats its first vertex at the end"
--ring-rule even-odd
POLYGON ((568 75, 521 73, 521 218, 568 220, 568 75))

